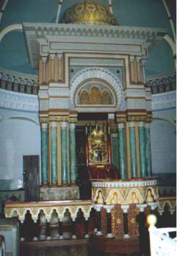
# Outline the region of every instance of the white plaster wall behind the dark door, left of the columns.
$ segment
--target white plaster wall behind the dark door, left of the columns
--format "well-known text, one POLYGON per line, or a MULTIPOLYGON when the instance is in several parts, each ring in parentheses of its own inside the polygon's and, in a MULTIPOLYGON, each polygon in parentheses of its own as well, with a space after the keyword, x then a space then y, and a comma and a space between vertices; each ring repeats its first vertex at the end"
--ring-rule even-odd
POLYGON ((21 188, 24 185, 23 156, 40 155, 38 113, 1 108, 0 116, 0 180, 13 179, 10 188, 21 188))

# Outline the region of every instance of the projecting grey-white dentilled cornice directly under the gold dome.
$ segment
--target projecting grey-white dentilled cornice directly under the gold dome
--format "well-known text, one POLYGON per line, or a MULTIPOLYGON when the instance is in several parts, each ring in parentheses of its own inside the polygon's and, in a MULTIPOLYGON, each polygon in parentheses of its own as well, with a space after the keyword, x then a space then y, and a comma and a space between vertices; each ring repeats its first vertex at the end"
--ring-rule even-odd
POLYGON ((61 40, 61 38, 68 38, 69 36, 70 40, 75 38, 76 41, 76 38, 79 38, 79 42, 82 43, 81 37, 83 42, 85 41, 84 38, 87 37, 92 40, 94 38, 95 42, 98 40, 105 45, 112 41, 115 44, 139 45, 152 51, 167 32, 166 29, 159 28, 48 23, 24 23, 23 29, 29 63, 32 68, 37 68, 37 60, 40 57, 39 40, 46 47, 50 40, 56 40, 56 38, 61 40), (116 43, 116 39, 119 43, 116 43))

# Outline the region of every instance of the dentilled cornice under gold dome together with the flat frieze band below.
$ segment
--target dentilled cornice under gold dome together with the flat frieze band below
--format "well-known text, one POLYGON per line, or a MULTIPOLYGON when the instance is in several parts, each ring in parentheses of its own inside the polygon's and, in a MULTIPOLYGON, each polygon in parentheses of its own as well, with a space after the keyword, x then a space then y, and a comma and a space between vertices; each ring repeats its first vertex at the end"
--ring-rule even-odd
POLYGON ((79 26, 78 24, 24 23, 23 29, 29 51, 29 62, 34 68, 37 67, 37 60, 40 54, 47 54, 48 51, 54 53, 55 49, 60 49, 60 51, 61 49, 78 50, 80 47, 78 43, 79 45, 82 43, 82 49, 85 50, 93 49, 93 46, 95 47, 94 43, 99 42, 99 51, 102 49, 104 51, 105 46, 109 46, 112 51, 142 54, 140 46, 142 43, 148 51, 152 51, 166 33, 165 29, 132 28, 131 26, 89 26, 84 24, 79 26), (48 35, 54 40, 46 44, 48 35), (60 38, 60 40, 56 40, 56 37, 60 38), (100 37, 104 38, 104 43, 100 42, 100 37), (83 42, 81 42, 81 38, 84 38, 83 42), (87 38, 87 44, 84 43, 85 38, 87 38), (43 43, 44 39, 47 39, 45 44, 43 43), (67 44, 65 40, 67 40, 67 44), (76 43, 73 44, 73 40, 76 43), (123 40, 122 44, 120 44, 120 40, 123 40), (38 43, 40 43, 41 47, 37 47, 38 43))

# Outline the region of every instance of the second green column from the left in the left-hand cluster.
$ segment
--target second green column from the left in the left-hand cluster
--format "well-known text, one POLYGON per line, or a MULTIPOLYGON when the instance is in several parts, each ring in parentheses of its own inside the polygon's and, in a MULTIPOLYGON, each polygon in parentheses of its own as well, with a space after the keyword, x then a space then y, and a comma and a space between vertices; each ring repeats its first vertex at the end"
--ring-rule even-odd
POLYGON ((51 122, 51 184, 57 185, 57 122, 51 122))

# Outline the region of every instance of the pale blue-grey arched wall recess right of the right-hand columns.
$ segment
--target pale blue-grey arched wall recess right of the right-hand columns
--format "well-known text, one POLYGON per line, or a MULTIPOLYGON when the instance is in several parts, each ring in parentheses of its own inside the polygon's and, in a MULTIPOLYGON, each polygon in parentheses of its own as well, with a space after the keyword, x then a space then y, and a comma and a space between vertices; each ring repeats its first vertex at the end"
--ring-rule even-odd
POLYGON ((176 127, 170 121, 153 119, 151 155, 154 175, 176 172, 176 127))

